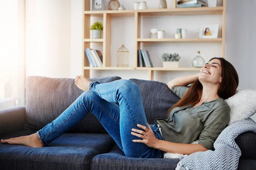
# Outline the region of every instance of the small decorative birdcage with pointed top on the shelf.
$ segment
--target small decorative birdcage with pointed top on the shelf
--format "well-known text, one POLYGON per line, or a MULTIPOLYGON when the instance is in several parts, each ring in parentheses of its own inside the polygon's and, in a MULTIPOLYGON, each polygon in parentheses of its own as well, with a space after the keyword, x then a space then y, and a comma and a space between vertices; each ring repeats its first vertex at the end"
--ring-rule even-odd
POLYGON ((129 67, 129 51, 123 44, 117 50, 117 67, 129 67))

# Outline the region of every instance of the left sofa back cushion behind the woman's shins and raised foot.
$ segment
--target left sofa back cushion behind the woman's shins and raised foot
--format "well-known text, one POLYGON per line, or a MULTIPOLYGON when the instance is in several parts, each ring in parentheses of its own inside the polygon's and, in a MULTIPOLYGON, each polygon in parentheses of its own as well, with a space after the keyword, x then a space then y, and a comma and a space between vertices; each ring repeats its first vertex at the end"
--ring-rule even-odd
MULTIPOLYGON (((117 79, 121 79, 121 77, 89 80, 106 83, 117 79)), ((70 78, 26 77, 26 122, 24 129, 39 130, 65 111, 83 93, 74 82, 75 79, 70 78)), ((76 127, 68 132, 107 133, 92 113, 88 113, 76 127)))

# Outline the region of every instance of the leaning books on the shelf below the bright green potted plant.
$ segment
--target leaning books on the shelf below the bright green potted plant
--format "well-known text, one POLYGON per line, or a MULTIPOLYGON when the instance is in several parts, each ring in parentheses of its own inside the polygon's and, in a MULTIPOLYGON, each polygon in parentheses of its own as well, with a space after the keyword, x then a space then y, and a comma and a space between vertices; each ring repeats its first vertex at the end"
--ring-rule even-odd
POLYGON ((90 67, 103 67, 102 54, 99 50, 86 48, 84 51, 90 62, 90 67))

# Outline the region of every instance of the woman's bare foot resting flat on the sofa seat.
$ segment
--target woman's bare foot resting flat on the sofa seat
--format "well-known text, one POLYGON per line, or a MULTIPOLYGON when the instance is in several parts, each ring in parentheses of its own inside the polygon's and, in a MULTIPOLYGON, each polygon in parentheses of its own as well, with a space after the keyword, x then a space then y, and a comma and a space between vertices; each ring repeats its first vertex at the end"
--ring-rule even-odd
POLYGON ((10 139, 1 139, 1 143, 8 143, 8 144, 19 144, 25 145, 29 147, 44 147, 40 139, 38 138, 37 134, 34 133, 29 136, 20 136, 17 138, 10 138, 10 139))

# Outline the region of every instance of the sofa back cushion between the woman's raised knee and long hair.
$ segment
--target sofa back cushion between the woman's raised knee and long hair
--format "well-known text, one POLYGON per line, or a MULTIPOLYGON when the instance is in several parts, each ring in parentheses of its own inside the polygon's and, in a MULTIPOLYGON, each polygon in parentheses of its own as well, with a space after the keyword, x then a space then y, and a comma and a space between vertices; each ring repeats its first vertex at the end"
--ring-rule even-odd
POLYGON ((158 118, 166 119, 169 108, 180 100, 163 82, 143 79, 130 80, 135 82, 140 89, 149 124, 155 124, 154 120, 158 118))

